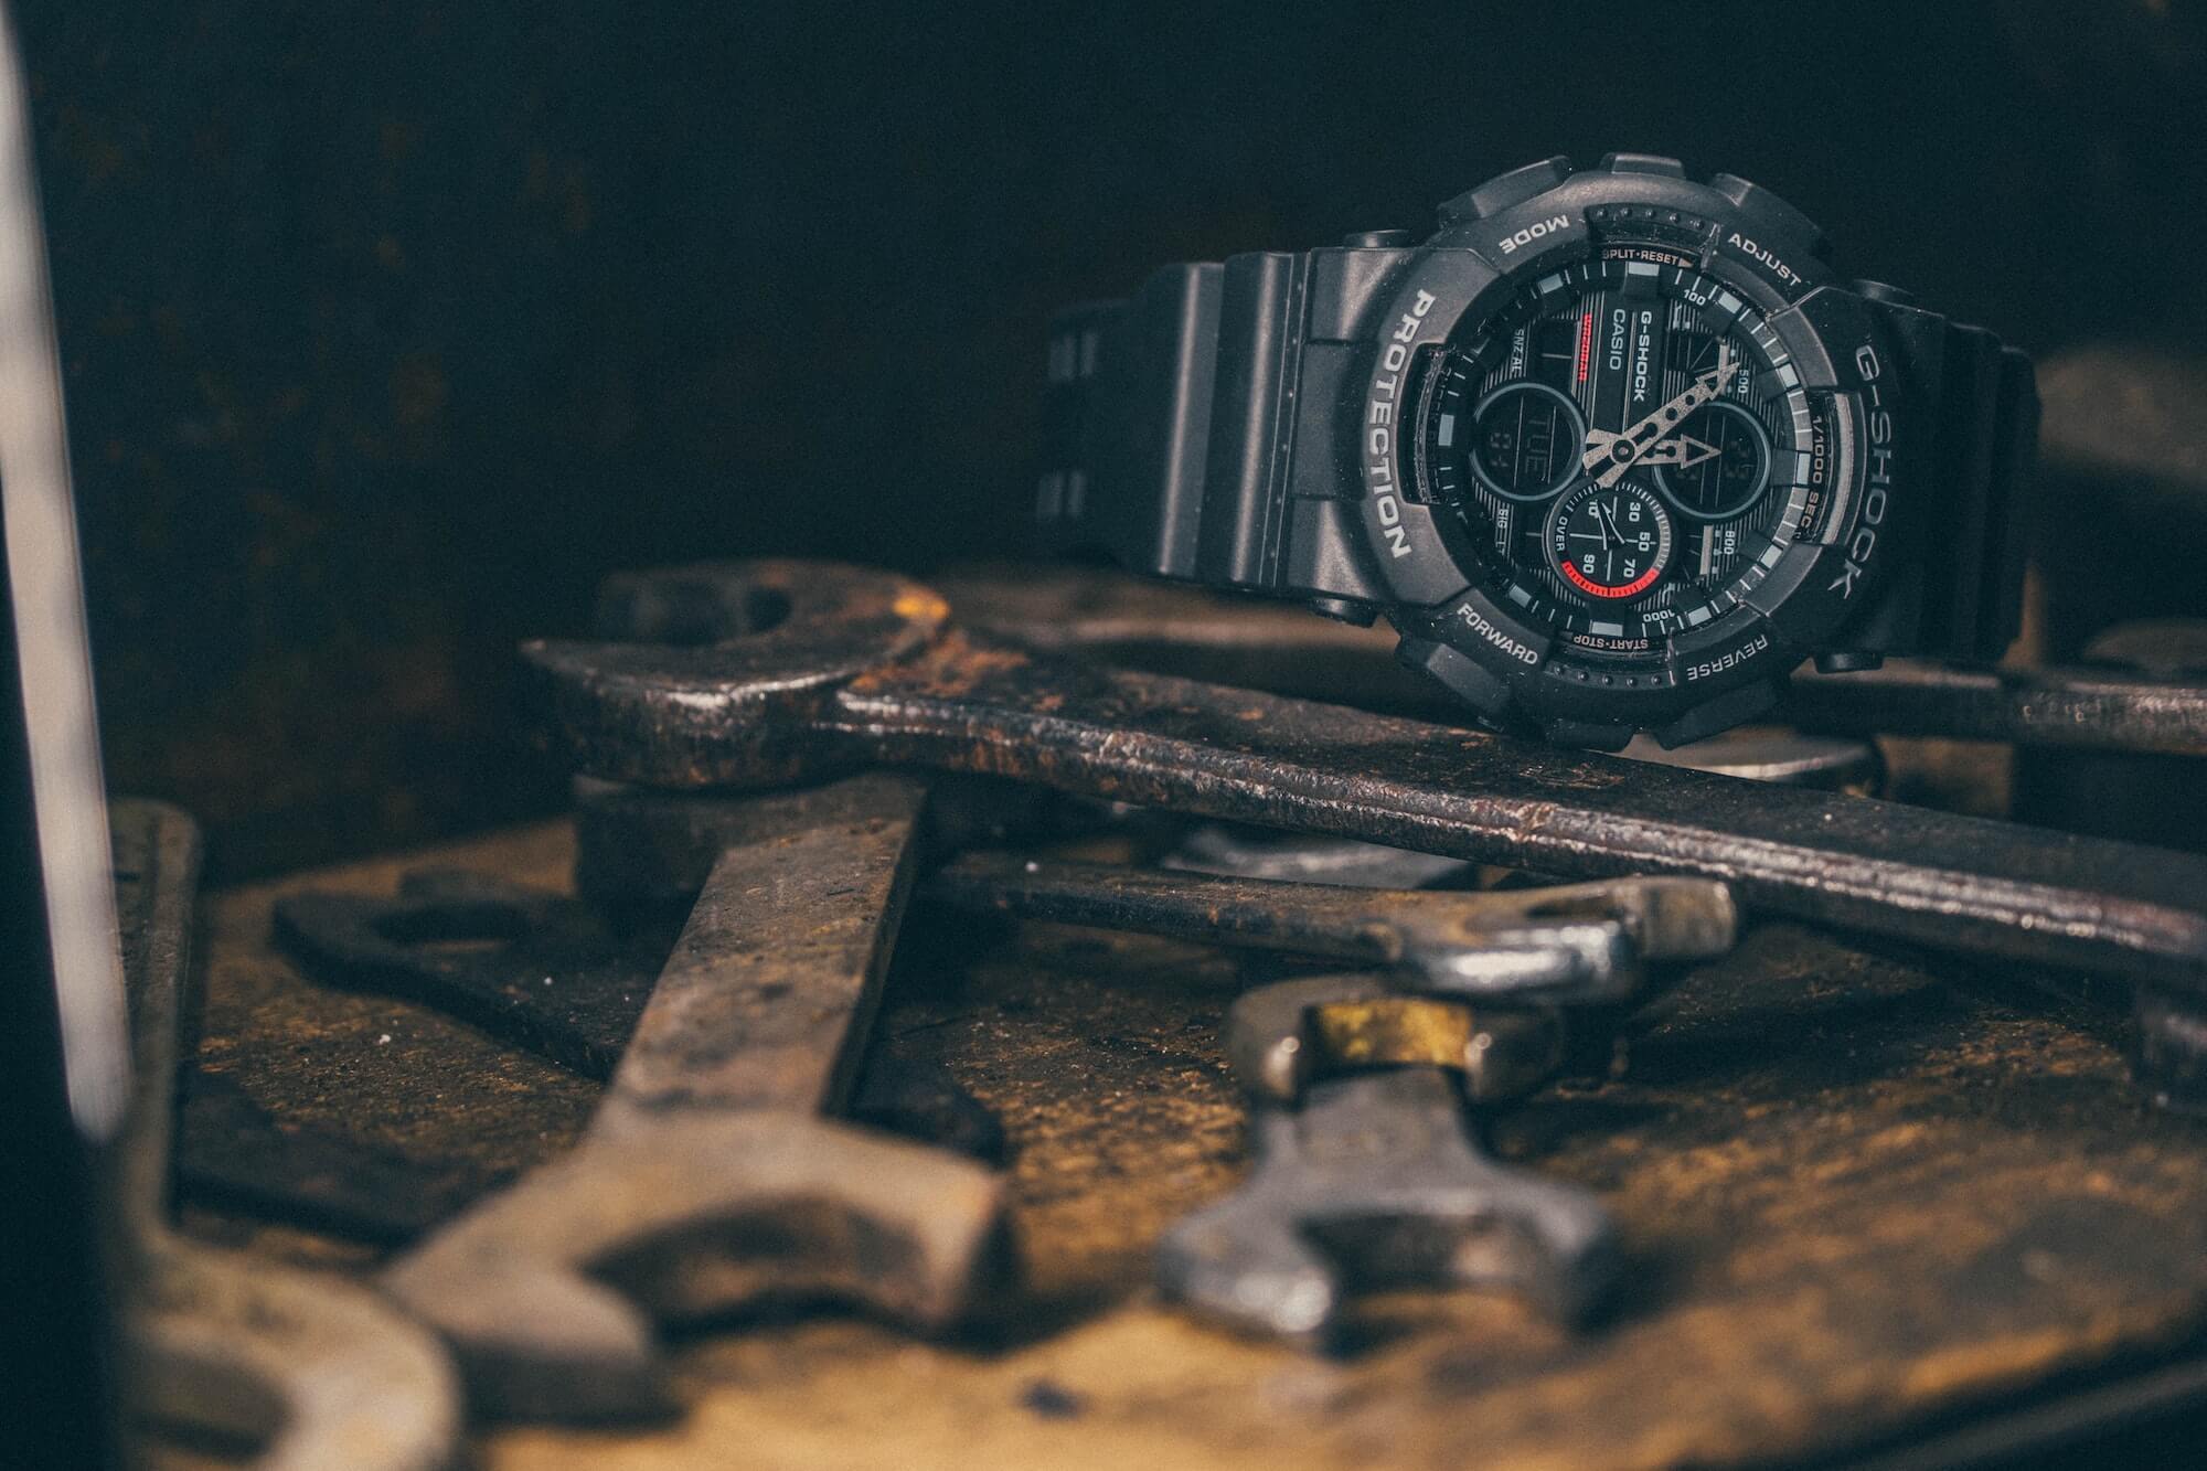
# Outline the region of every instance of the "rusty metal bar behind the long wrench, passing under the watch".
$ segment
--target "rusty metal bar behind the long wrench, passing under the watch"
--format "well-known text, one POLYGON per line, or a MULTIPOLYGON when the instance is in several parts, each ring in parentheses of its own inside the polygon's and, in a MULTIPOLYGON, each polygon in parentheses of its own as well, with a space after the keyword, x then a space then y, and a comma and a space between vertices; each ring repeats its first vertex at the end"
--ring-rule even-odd
MULTIPOLYGON (((1463 716, 1395 663, 1393 634, 1313 618, 1300 605, 1229 601, 1070 568, 1053 568, 1046 579, 984 568, 938 585, 969 627, 1033 649, 1426 720, 1463 716)), ((1823 736, 2207 755, 2207 685, 2090 665, 1962 669, 1889 660, 1854 674, 1803 669, 1781 716, 1823 736)))

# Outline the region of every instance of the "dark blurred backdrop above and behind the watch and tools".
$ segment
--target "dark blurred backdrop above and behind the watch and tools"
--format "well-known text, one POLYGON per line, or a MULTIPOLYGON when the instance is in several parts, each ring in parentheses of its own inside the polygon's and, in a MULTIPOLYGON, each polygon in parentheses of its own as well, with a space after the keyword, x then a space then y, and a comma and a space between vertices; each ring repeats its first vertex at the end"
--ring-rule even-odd
POLYGON ((609 568, 1020 550, 1042 325, 1671 152, 2039 353, 2207 327, 2192 0, 18 7, 119 789, 243 875, 550 806, 609 568))

